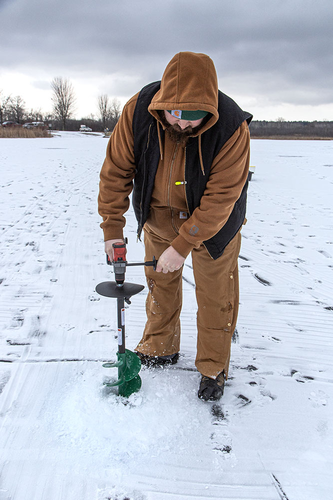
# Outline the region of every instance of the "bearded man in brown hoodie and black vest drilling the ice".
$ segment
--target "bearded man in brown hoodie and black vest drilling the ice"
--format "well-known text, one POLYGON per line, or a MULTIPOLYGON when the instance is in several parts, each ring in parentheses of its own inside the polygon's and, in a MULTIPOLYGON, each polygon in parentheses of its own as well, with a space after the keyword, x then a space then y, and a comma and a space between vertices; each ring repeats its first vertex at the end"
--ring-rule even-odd
POLYGON ((228 377, 239 290, 237 258, 245 223, 252 115, 218 90, 213 61, 180 52, 162 80, 125 105, 100 174, 105 252, 123 241, 133 187, 144 231, 147 323, 136 347, 143 364, 179 357, 182 266, 192 252, 196 283, 198 396, 219 399, 228 377))

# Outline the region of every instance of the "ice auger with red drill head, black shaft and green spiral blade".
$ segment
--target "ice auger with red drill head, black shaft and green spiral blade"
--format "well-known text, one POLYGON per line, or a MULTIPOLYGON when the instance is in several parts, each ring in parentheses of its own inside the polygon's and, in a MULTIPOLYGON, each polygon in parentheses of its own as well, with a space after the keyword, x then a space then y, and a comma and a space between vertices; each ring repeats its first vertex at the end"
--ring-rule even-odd
POLYGON ((156 269, 157 260, 147 262, 129 263, 126 260, 126 243, 113 243, 113 259, 106 255, 106 262, 113 266, 115 281, 103 281, 96 286, 96 291, 104 297, 117 299, 118 316, 118 352, 117 361, 104 363, 105 368, 118 368, 118 379, 114 382, 105 382, 108 387, 118 385, 118 394, 128 397, 133 392, 137 392, 141 387, 141 378, 138 374, 141 369, 139 357, 129 349, 125 348, 125 306, 124 302, 130 304, 132 295, 136 295, 144 289, 144 285, 136 283, 125 283, 125 271, 128 265, 151 265, 156 269))

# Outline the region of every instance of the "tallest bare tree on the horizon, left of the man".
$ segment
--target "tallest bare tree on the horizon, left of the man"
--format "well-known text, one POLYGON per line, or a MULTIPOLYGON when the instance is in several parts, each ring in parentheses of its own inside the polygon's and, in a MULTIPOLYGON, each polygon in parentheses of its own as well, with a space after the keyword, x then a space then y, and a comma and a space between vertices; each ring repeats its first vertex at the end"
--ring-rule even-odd
POLYGON ((62 76, 56 76, 51 81, 53 90, 53 111, 56 118, 62 122, 65 129, 66 120, 71 117, 75 109, 75 94, 71 82, 62 76))

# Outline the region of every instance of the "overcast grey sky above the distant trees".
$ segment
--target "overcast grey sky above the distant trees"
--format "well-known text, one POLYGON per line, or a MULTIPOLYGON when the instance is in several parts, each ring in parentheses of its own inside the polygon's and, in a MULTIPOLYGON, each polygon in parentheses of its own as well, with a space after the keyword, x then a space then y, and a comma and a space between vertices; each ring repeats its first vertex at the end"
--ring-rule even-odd
POLYGON ((254 119, 333 120, 332 33, 332 0, 0 0, 0 89, 51 111, 50 81, 69 78, 81 118, 190 50, 254 119))

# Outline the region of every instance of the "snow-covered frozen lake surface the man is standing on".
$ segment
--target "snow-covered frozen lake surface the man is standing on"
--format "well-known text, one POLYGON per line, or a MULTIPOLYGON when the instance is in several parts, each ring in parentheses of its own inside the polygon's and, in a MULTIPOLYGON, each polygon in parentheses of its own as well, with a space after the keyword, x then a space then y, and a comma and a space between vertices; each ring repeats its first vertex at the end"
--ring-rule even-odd
MULTIPOLYGON (((1 139, 0 500, 333 498, 333 142, 252 140, 241 304, 219 404, 197 398, 196 308, 184 267, 181 358, 116 368, 116 301, 96 198, 107 139, 1 139), (180 369, 187 368, 187 369, 180 369)), ((127 217, 129 261, 142 261, 127 217)), ((145 284, 142 267, 127 281, 145 284)), ((126 306, 127 347, 145 291, 126 306)))

